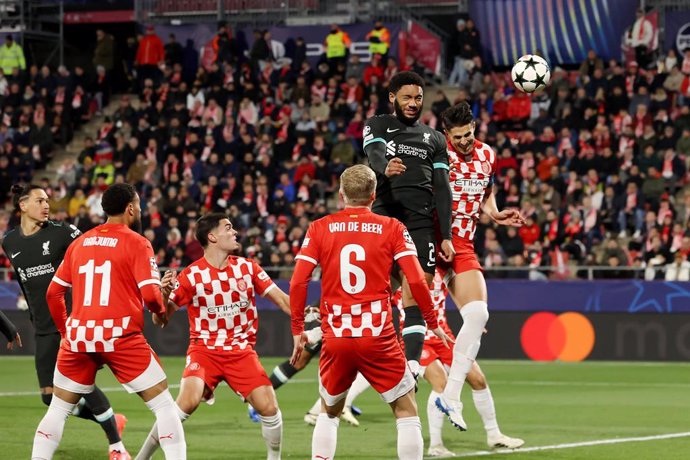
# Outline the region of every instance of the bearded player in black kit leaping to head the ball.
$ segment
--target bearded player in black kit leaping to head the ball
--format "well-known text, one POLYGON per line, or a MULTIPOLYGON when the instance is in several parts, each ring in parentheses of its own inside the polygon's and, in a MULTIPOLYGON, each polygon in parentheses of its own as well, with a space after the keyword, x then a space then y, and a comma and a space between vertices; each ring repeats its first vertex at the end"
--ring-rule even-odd
MULTIPOLYGON (((417 121, 424 102, 422 77, 414 72, 400 72, 391 78, 388 90, 395 113, 377 115, 364 124, 364 152, 377 179, 372 211, 405 224, 427 283, 431 284, 436 270, 437 231, 442 239, 440 257, 450 261, 455 252, 451 242, 452 199, 446 139, 417 121)), ((402 286, 405 355, 417 375, 426 326, 404 278, 402 286)))

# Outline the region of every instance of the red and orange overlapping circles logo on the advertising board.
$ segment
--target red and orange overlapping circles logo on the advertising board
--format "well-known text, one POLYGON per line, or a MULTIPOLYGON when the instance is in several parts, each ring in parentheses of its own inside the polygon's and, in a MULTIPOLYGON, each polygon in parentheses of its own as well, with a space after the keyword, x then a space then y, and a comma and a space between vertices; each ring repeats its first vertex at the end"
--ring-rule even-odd
POLYGON ((582 361, 592 352, 594 342, 592 323, 576 312, 535 313, 520 331, 522 350, 534 361, 582 361))

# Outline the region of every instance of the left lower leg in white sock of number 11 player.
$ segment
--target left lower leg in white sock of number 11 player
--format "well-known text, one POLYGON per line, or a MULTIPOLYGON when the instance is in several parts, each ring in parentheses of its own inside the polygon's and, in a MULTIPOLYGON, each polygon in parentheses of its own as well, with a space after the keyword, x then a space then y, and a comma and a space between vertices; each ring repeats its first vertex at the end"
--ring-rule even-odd
POLYGON ((53 397, 48 406, 48 411, 38 424, 34 435, 34 446, 31 452, 33 460, 47 460, 53 458, 53 454, 60 444, 62 433, 65 429, 67 417, 72 414, 74 406, 81 399, 81 395, 61 388, 53 389, 53 397))

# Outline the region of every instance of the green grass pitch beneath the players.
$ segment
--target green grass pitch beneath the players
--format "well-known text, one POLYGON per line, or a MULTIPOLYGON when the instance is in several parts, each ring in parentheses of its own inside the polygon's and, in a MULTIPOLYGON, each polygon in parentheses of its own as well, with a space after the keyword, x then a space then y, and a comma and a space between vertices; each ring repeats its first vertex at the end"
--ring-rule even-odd
MULTIPOLYGON (((265 358, 270 370, 282 359, 265 358)), ((183 357, 163 358, 176 384, 183 357)), ((469 431, 444 427, 446 447, 461 458, 491 456, 537 459, 687 459, 690 458, 690 365, 685 363, 534 363, 480 361, 496 401, 504 433, 524 438, 517 451, 487 451, 485 433, 474 410, 471 390, 462 400, 469 431)), ((29 458, 34 430, 45 412, 37 392, 33 358, 0 358, 0 453, 29 458)), ((310 456, 312 427, 303 422, 317 395, 316 363, 278 391, 283 412, 283 458, 310 456)), ((154 421, 141 400, 129 395, 108 370, 97 383, 116 412, 129 419, 124 442, 134 456, 154 421)), ((177 386, 172 389, 177 394, 177 386)), ((428 443, 426 402, 429 385, 420 384, 417 401, 428 443)), ((360 427, 341 422, 340 459, 392 459, 396 430, 390 409, 373 390, 356 404, 364 411, 360 427)), ((246 406, 224 384, 214 406, 202 404, 184 425, 189 459, 262 459, 265 447, 246 406)), ((428 445, 426 446, 428 447, 428 445)), ((425 448, 426 451, 426 448, 425 448)), ((107 443, 95 423, 71 417, 56 459, 107 458, 107 443)), ((158 454, 155 458, 163 458, 158 454)))

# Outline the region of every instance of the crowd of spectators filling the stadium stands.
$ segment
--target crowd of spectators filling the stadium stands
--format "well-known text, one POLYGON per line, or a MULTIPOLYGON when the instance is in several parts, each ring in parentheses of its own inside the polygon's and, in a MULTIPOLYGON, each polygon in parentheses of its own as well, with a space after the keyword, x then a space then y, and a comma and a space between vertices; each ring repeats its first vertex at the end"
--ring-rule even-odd
MULTIPOLYGON (((339 174, 365 161, 364 120, 392 111, 388 81, 415 64, 375 54, 370 62, 324 56, 312 66, 304 40, 285 44, 275 58, 270 34, 255 36, 259 42, 244 53, 221 28, 214 59, 199 65, 174 37, 164 45, 149 28, 131 53, 136 94, 118 97, 78 157, 61 165, 57 182, 43 184, 53 217, 87 230, 102 221, 105 187, 130 182, 159 265, 199 257, 195 219, 222 211, 240 230, 243 254, 285 268, 271 275, 288 278, 309 222, 342 204, 339 174)), ((482 264, 525 268, 490 276, 588 276, 570 268, 577 264, 610 267, 598 277, 688 279, 690 51, 669 51, 653 70, 605 63, 591 52, 579 71, 556 67, 547 90, 527 96, 482 62, 470 21, 458 24, 454 40, 457 96, 427 88, 421 121, 440 130, 441 112, 467 100, 477 138, 497 153, 499 207, 527 217, 520 229, 481 218, 475 248, 482 264), (660 266, 672 269, 649 270, 660 266)), ((13 69, 1 77, 0 201, 10 184, 30 180, 50 159, 53 144, 68 142, 106 105, 108 69, 99 65, 103 78, 95 80, 79 68, 13 69)), ((0 216, 0 230, 8 220, 0 216)))

